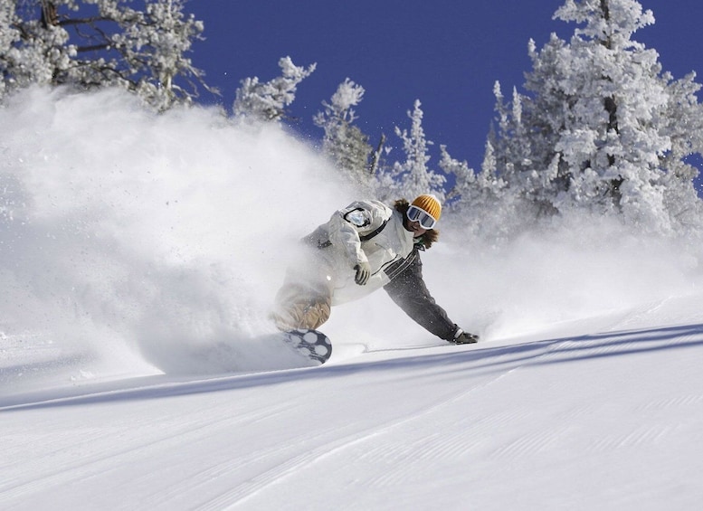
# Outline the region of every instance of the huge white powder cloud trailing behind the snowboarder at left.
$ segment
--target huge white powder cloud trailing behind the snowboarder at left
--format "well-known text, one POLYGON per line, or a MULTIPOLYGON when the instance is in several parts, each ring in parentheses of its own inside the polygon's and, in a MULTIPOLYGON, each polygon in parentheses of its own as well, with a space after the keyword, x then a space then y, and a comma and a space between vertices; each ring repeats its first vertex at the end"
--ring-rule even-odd
POLYGON ((265 332, 290 241, 353 196, 281 128, 151 115, 116 90, 25 91, 0 133, 0 331, 117 371, 135 344, 188 371, 194 350, 265 332))

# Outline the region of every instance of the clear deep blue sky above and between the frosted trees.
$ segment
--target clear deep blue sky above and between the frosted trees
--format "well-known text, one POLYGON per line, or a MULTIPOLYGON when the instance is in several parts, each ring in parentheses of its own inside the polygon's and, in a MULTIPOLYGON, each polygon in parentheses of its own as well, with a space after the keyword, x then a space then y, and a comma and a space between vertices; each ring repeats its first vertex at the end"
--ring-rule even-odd
MULTIPOLYGON (((318 64, 291 107, 306 136, 321 136, 311 118, 348 77, 366 90, 357 125, 372 144, 384 132, 398 147, 394 126, 409 126, 406 112, 420 99, 427 138, 478 169, 493 118, 493 83, 499 80, 506 94, 514 86, 524 91, 527 41, 541 48, 552 32, 566 40, 574 32, 574 24, 552 20, 563 3, 207 0, 186 8, 205 26, 206 41, 195 44, 191 57, 206 81, 222 90, 227 109, 240 80, 271 80, 280 74, 280 57, 290 55, 297 65, 318 64)), ((676 78, 703 73, 703 2, 641 0, 641 5, 657 22, 634 39, 656 49, 663 69, 676 78)), ((436 164, 435 149, 430 166, 436 164)))

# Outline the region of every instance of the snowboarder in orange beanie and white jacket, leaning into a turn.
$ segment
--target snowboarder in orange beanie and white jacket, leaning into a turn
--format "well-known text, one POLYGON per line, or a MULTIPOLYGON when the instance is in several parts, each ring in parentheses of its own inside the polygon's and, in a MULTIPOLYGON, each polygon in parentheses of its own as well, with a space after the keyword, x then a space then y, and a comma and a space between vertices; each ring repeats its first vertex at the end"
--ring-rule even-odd
POLYGON ((306 251, 294 263, 276 297, 272 317, 280 330, 318 328, 331 307, 384 288, 426 330, 450 343, 476 343, 437 305, 423 281, 420 251, 437 241, 442 215, 436 197, 423 194, 390 208, 374 200, 349 204, 303 238, 306 251))

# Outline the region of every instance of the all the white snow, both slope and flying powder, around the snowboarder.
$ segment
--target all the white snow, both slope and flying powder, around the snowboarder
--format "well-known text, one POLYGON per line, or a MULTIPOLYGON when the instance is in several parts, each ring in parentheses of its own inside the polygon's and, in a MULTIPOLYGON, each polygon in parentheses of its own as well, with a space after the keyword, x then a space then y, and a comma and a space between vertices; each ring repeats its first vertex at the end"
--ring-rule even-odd
POLYGON ((593 219, 500 248, 447 229, 425 278, 479 345, 380 292, 297 368, 253 339, 292 241, 354 198, 314 151, 116 93, 34 90, 0 135, 0 508, 703 500, 697 247, 593 219))

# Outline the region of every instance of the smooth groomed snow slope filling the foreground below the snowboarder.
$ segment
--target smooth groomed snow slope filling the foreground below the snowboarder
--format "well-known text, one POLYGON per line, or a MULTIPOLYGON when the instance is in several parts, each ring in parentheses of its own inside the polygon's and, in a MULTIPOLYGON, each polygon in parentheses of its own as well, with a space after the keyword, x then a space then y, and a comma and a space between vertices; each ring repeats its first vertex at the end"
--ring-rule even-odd
POLYGON ((0 506, 694 509, 701 310, 687 297, 474 346, 4 396, 0 506))

